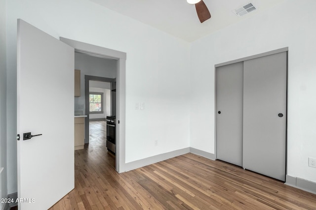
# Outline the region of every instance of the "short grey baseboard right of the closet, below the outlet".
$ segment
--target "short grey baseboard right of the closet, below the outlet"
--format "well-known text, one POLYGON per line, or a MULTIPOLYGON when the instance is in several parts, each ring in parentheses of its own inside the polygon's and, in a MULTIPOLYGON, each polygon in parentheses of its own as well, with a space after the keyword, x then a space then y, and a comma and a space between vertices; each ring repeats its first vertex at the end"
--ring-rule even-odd
POLYGON ((304 180, 298 177, 291 177, 289 175, 286 175, 285 184, 316 194, 316 182, 304 180))

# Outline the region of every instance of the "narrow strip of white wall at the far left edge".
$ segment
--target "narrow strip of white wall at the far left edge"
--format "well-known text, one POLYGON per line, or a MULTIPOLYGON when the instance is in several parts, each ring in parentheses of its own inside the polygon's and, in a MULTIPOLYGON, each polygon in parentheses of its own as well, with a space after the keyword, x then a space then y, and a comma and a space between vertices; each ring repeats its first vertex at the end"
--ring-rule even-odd
MULTIPOLYGON (((0 197, 7 196, 7 158, 6 158, 6 26, 5 0, 0 0, 0 197)), ((0 203, 0 209, 4 204, 0 203)))

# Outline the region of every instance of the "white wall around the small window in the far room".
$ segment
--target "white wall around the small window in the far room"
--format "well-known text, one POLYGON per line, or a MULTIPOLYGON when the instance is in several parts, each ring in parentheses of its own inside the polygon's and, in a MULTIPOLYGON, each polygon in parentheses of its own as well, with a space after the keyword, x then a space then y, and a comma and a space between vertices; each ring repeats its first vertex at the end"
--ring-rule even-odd
POLYGON ((95 87, 94 84, 91 85, 91 82, 96 83, 96 81, 89 82, 89 92, 102 92, 103 93, 103 113, 102 114, 90 114, 89 119, 100 119, 106 118, 107 116, 111 115, 111 83, 106 82, 97 82, 97 83, 104 83, 103 86, 107 86, 106 88, 99 88, 101 85, 98 85, 98 88, 95 87))

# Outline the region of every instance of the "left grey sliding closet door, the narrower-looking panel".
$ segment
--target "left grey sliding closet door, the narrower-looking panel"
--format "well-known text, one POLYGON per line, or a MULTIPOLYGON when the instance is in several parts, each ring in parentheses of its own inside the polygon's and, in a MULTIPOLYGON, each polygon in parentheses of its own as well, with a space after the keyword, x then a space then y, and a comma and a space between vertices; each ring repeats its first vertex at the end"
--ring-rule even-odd
POLYGON ((216 68, 217 159, 242 166, 243 63, 216 68))

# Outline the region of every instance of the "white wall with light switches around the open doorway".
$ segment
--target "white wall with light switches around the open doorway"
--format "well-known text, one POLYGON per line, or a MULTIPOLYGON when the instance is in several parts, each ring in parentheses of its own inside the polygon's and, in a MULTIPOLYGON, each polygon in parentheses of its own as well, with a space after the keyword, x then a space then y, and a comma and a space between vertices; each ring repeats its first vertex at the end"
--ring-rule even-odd
MULTIPOLYGON (((16 19, 21 18, 56 38, 127 53, 125 162, 189 147, 189 43, 88 0, 9 0, 7 11, 7 92, 13 96, 8 142, 16 142, 16 19), (145 102, 145 110, 135 110, 136 102, 145 102)), ((8 146, 16 156, 16 143, 8 146)), ((16 159, 10 165, 16 168, 16 159)), ((15 181, 9 183, 14 191, 15 181)))

